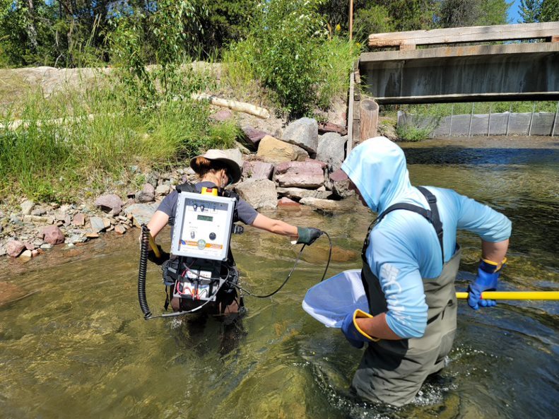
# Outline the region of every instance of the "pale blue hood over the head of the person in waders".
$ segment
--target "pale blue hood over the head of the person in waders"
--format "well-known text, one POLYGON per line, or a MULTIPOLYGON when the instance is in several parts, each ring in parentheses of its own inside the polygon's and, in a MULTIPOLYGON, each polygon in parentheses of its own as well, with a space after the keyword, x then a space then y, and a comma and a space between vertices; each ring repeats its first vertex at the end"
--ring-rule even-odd
POLYGON ((386 137, 369 138, 353 148, 341 165, 375 213, 396 202, 416 203, 404 151, 386 137))

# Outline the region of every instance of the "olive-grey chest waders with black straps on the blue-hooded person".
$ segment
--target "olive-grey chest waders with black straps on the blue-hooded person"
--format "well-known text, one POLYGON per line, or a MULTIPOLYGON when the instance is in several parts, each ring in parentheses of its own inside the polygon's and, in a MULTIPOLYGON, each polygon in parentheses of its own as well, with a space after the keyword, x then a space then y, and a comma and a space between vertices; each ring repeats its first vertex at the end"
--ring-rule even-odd
POLYGON ((369 343, 353 377, 353 391, 362 399, 403 406, 412 401, 428 377, 442 370, 445 357, 452 348, 457 327, 457 300, 454 289, 461 251, 457 251, 445 264, 442 247, 442 223, 437 211, 437 199, 425 188, 418 187, 428 200, 430 211, 408 203, 396 203, 387 208, 375 220, 367 232, 363 245, 363 270, 361 280, 373 316, 387 311, 387 301, 380 281, 365 258, 369 245, 369 233, 387 213, 407 210, 419 213, 433 225, 439 238, 442 253, 442 273, 437 278, 423 278, 425 302, 428 305, 428 320, 425 334, 421 338, 399 341, 380 340, 369 343))

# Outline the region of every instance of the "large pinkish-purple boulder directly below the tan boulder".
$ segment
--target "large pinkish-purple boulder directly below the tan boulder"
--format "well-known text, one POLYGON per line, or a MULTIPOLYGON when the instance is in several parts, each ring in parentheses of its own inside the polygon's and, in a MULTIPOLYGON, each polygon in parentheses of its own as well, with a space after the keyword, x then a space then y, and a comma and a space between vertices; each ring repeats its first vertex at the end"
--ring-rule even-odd
POLYGON ((276 165, 276 182, 280 187, 319 188, 324 185, 324 167, 317 160, 280 163, 276 165))

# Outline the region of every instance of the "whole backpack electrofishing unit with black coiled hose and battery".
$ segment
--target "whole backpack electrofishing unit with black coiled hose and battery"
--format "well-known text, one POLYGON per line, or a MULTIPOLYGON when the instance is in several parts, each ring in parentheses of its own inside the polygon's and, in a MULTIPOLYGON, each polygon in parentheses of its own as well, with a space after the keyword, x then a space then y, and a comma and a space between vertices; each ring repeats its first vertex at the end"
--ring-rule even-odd
POLYGON ((179 185, 177 191, 175 217, 170 218, 172 257, 162 265, 163 283, 169 290, 165 309, 172 302, 175 312, 153 316, 149 311, 145 295, 146 267, 143 266, 147 265, 148 247, 153 239, 144 225, 138 296, 146 319, 196 312, 208 303, 215 303, 220 291, 232 296, 236 293, 238 271, 230 242, 232 233, 243 232, 242 226, 235 225, 237 194, 224 191, 223 196, 218 196, 218 188, 206 187, 199 193, 192 184, 179 185))

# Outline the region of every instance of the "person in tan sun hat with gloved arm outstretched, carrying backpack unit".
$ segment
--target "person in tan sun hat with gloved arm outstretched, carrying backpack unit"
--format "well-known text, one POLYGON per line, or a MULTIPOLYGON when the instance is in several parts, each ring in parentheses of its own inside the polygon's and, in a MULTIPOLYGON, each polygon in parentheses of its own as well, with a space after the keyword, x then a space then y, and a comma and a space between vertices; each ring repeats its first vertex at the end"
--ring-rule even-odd
MULTIPOLYGON (((282 220, 276 220, 266 217, 258 213, 247 201, 241 199, 235 192, 225 190, 224 188, 235 184, 241 178, 241 168, 235 162, 228 158, 228 156, 220 150, 208 150, 204 155, 197 155, 190 160, 190 167, 199 176, 198 182, 195 184, 184 184, 187 186, 186 191, 201 192, 202 188, 218 188, 218 194, 221 196, 230 196, 236 199, 235 205, 235 218, 234 221, 240 221, 246 225, 273 232, 277 235, 284 235, 290 237, 292 243, 312 244, 317 240, 322 231, 317 228, 305 228, 290 225, 282 220)), ((184 185, 180 185, 177 189, 181 189, 184 185)), ((177 210, 178 201, 177 190, 172 191, 171 194, 165 196, 165 199, 160 203, 157 211, 148 223, 148 228, 152 237, 155 237, 159 232, 169 224, 172 226, 175 223, 175 212, 177 210)), ((172 230, 171 230, 172 236, 172 230)), ((153 256, 153 255, 152 255, 153 256)), ((151 258, 155 263, 162 264, 168 259, 168 254, 163 252, 163 257, 156 259, 151 258)), ((233 254, 230 254, 231 264, 234 266, 233 254)), ((223 287, 226 288, 226 287, 223 287)), ((237 289, 233 286, 228 289, 221 289, 218 292, 218 298, 215 304, 208 304, 204 307, 204 312, 207 314, 214 314, 223 316, 228 314, 237 314, 240 307, 243 306, 242 297, 237 293, 237 289)), ((185 307, 185 302, 172 299, 171 305, 175 311, 185 310, 192 307, 185 307)))

